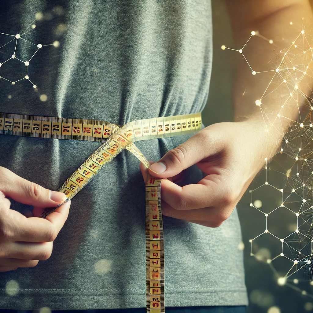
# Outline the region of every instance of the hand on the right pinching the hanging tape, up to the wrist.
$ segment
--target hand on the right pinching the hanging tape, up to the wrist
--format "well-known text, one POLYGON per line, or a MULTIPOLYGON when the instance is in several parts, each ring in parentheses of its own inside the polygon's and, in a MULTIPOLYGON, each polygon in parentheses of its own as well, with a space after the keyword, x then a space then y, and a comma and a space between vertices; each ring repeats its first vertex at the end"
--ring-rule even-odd
POLYGON ((217 123, 150 163, 149 169, 142 163, 140 168, 144 179, 148 170, 153 177, 169 178, 161 185, 163 215, 218 227, 264 165, 265 146, 263 130, 250 121, 217 123), (180 187, 175 182, 194 164, 207 176, 180 187))

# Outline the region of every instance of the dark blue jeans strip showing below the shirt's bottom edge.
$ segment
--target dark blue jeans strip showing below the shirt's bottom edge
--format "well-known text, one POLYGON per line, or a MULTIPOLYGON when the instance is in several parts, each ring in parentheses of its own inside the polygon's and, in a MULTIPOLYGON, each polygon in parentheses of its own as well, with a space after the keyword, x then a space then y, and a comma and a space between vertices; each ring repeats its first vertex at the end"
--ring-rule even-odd
MULTIPOLYGON (((246 306, 182 306, 165 308, 170 313, 246 313, 246 306)), ((5 310, 0 313, 32 313, 32 310, 5 310)), ((52 310, 52 313, 146 313, 146 308, 141 309, 116 309, 116 310, 52 310)))

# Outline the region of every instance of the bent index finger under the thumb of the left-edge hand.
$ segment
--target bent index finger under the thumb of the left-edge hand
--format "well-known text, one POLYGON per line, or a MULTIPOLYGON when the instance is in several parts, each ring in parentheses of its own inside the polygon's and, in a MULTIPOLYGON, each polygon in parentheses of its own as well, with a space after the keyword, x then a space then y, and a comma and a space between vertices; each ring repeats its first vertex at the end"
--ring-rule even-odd
MULTIPOLYGON (((34 208, 34 217, 26 218, 21 213, 10 210, 9 219, 3 221, 4 226, 13 229, 14 241, 19 242, 51 242, 57 237, 69 214, 70 201, 61 205, 46 218, 40 218, 43 208, 34 208), (7 225, 10 223, 10 225, 7 225)), ((34 259, 34 258, 33 258, 34 259)))

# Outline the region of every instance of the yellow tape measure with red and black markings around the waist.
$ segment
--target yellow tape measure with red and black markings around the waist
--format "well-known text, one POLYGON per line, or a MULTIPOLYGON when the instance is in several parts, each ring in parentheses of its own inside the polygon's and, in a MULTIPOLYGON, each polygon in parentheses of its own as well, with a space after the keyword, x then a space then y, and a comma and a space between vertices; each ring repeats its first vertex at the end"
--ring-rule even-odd
MULTIPOLYGON (((0 134, 67 140, 99 141, 95 150, 59 187, 66 203, 124 149, 146 167, 149 162, 134 145, 140 140, 192 134, 201 129, 201 113, 158 117, 118 126, 105 121, 0 113, 0 134)), ((164 313, 164 234, 161 208, 162 179, 146 179, 146 303, 147 312, 164 313)), ((45 208, 46 218, 55 208, 45 208)))

